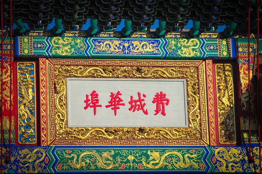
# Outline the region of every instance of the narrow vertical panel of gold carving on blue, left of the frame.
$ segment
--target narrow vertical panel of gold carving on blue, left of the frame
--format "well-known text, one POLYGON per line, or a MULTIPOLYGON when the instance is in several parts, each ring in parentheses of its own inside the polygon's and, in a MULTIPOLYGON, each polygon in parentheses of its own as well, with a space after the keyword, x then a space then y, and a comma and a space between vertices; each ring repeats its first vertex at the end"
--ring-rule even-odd
POLYGON ((17 64, 18 82, 18 141, 36 143, 34 63, 17 64))

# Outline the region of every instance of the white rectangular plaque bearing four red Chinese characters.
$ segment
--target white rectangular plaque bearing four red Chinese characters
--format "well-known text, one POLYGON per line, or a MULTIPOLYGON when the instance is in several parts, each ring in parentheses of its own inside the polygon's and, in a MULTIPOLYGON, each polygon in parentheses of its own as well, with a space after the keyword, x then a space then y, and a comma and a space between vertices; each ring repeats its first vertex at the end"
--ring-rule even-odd
POLYGON ((68 127, 188 127, 186 82, 67 78, 67 113, 68 127))

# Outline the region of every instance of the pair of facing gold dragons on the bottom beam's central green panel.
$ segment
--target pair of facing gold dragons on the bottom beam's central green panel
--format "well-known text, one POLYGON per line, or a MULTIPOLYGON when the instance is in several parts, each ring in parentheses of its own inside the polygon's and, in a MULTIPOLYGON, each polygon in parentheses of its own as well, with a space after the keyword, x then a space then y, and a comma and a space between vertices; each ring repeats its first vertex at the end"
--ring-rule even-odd
MULTIPOLYGON (((167 150, 164 153, 161 153, 159 151, 152 151, 148 150, 147 154, 149 155, 149 159, 147 160, 144 156, 141 158, 139 155, 141 153, 138 153, 136 155, 133 155, 133 153, 128 154, 127 152, 122 152, 121 157, 117 156, 116 158, 113 157, 115 154, 113 150, 102 152, 101 154, 98 154, 94 150, 84 151, 80 152, 79 150, 74 151, 72 154, 66 154, 65 152, 58 152, 61 156, 60 158, 64 159, 64 161, 67 161, 66 165, 72 166, 75 169, 79 170, 87 170, 87 169, 94 169, 95 166, 97 166, 100 169, 115 169, 119 167, 121 160, 122 161, 130 161, 130 164, 132 164, 133 160, 137 161, 138 158, 143 163, 143 167, 146 169, 161 169, 165 166, 167 166, 168 169, 186 169, 189 166, 193 166, 194 169, 199 168, 199 158, 201 157, 201 153, 188 153, 186 150, 181 151, 170 151, 167 150), (93 158, 95 160, 95 163, 91 163, 89 158, 93 158), (172 163, 168 163, 168 158, 173 158, 172 163), (177 158, 179 160, 177 160, 177 158)), ((71 153, 71 152, 70 152, 71 153)))

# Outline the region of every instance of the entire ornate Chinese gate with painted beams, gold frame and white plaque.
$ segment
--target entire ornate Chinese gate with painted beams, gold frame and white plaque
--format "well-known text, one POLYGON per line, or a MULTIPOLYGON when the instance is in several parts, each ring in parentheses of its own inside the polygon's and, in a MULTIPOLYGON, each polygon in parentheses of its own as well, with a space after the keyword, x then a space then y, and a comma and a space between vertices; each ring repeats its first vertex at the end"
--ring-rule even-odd
MULTIPOLYGON (((67 5, 60 12, 71 30, 67 5)), ((90 7, 96 15, 97 6, 90 7)), ((193 20, 190 31, 178 33, 170 20, 154 32, 142 31, 135 18, 136 32, 127 19, 121 32, 102 31, 101 20, 98 33, 95 18, 87 32, 62 32, 58 18, 49 31, 22 32, 19 19, 15 37, 2 30, 3 173, 260 172, 253 74, 261 40, 232 35, 230 27, 204 32, 210 21, 196 27, 193 20)))

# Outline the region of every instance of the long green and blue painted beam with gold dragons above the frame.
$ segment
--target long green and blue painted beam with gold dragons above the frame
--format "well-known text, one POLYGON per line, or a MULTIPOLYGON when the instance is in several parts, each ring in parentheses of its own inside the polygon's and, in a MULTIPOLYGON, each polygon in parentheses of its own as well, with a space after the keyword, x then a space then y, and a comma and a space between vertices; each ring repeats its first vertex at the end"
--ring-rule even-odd
POLYGON ((103 59, 235 59, 235 40, 17 36, 16 57, 103 59))

